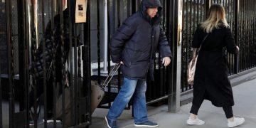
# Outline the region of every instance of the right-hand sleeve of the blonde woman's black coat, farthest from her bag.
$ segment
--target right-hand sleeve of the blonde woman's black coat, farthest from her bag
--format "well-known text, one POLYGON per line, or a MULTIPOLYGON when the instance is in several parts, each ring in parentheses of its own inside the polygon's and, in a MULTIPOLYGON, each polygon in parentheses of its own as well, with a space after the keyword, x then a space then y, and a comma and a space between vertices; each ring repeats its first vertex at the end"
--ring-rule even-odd
POLYGON ((224 38, 225 38, 225 46, 228 50, 228 53, 237 54, 238 48, 236 48, 235 46, 235 39, 230 28, 226 29, 224 38))

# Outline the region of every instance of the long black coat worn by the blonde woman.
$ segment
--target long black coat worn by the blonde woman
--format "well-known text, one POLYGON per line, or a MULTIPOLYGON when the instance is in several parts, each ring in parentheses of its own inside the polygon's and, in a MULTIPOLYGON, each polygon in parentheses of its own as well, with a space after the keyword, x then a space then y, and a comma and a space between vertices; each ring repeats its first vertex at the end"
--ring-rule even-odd
MULTIPOLYGON (((198 27, 192 47, 199 48, 206 34, 198 27)), ((238 53, 230 28, 220 26, 209 33, 199 51, 193 85, 193 105, 200 105, 204 99, 210 100, 217 107, 234 105, 232 87, 228 80, 228 63, 223 55, 225 47, 229 53, 238 53)))

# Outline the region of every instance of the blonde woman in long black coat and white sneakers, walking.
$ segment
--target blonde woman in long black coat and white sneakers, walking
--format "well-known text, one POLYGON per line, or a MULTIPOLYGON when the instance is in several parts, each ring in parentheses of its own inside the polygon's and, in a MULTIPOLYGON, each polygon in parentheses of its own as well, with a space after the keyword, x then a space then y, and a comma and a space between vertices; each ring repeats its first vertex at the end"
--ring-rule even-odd
POLYGON ((214 106, 223 107, 228 127, 236 127, 245 122, 245 119, 233 116, 233 91, 228 80, 228 63, 223 55, 223 48, 227 48, 232 54, 238 53, 239 48, 235 46, 223 6, 210 6, 208 18, 198 26, 192 47, 200 46, 193 85, 193 102, 187 124, 205 123, 198 119, 197 114, 203 100, 210 100, 214 106))

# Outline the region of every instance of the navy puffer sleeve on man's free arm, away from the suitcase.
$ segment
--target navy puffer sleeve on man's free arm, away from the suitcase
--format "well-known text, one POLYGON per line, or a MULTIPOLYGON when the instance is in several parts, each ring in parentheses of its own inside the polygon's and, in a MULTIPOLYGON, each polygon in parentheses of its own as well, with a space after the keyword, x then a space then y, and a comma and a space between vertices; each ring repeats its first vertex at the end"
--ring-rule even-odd
POLYGON ((162 58, 166 56, 169 56, 170 58, 172 57, 171 48, 168 45, 166 35, 163 31, 163 28, 161 27, 160 27, 160 33, 159 33, 159 51, 161 53, 162 58))

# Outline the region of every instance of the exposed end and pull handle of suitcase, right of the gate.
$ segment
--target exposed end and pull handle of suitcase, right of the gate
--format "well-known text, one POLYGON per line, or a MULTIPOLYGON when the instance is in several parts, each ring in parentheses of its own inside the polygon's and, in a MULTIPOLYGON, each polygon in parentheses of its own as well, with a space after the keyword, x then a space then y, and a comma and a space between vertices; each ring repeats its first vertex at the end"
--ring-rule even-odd
POLYGON ((107 84, 110 82, 110 80, 113 78, 114 74, 117 73, 118 68, 120 67, 120 63, 117 63, 114 65, 114 68, 112 68, 110 74, 107 76, 106 80, 103 82, 102 87, 95 82, 92 81, 91 84, 91 112, 93 113, 97 106, 100 104, 102 98, 105 95, 105 87, 107 87, 107 84))

